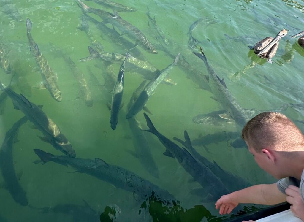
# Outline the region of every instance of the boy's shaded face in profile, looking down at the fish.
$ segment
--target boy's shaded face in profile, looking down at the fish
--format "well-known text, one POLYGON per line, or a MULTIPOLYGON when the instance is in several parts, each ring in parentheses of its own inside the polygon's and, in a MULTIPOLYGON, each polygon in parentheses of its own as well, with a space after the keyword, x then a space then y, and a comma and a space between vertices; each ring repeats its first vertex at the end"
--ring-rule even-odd
POLYGON ((249 152, 254 156, 254 160, 257 162, 257 165, 276 179, 281 179, 281 171, 278 170, 278 167, 273 161, 271 161, 269 156, 266 153, 257 152, 247 141, 245 142, 248 146, 249 152))

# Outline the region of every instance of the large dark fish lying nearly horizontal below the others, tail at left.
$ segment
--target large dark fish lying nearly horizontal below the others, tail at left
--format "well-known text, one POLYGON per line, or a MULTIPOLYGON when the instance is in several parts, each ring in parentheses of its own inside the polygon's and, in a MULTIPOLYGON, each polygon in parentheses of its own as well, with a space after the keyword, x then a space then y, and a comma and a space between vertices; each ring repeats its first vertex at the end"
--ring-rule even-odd
POLYGON ((174 197, 168 193, 168 191, 159 188, 150 181, 143 179, 125 168, 108 164, 99 158, 91 160, 71 158, 68 156, 55 156, 39 149, 34 149, 34 152, 43 163, 53 161, 64 166, 70 165, 79 173, 92 175, 97 179, 113 184, 117 188, 130 191, 133 194, 135 193, 142 199, 155 193, 159 199, 174 200, 174 197))

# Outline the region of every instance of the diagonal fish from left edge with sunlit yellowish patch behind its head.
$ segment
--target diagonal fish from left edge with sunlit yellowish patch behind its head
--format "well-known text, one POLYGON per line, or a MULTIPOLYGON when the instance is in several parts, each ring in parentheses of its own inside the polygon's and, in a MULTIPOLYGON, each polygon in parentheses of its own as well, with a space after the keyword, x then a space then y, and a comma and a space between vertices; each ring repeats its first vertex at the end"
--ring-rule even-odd
POLYGON ((42 141, 50 143, 53 147, 64 154, 75 157, 75 151, 71 143, 60 132, 59 127, 38 106, 30 102, 24 95, 18 95, 10 87, 5 87, 0 82, 0 89, 12 99, 15 109, 20 111, 40 130, 44 137, 38 136, 42 141))

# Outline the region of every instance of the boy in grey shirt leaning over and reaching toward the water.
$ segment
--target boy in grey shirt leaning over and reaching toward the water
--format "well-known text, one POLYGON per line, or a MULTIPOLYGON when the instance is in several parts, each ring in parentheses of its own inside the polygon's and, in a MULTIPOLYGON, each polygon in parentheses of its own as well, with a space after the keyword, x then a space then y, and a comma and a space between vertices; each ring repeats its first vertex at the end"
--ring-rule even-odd
MULTIPOLYGON (((304 221, 304 135, 285 115, 260 113, 242 130, 248 150, 259 167, 280 179, 223 195, 215 204, 220 214, 239 203, 274 205, 287 201, 296 217, 304 221)), ((252 221, 252 220, 251 220, 252 221)))

